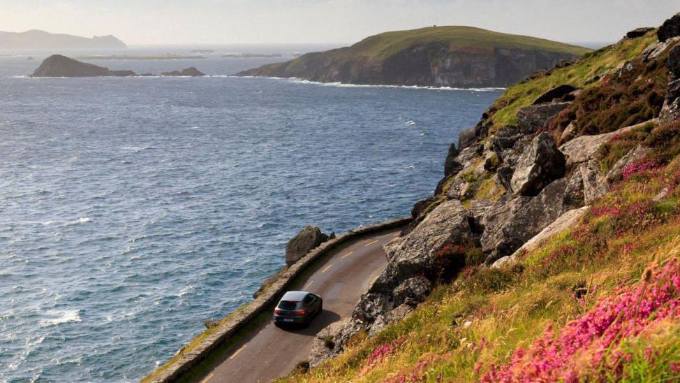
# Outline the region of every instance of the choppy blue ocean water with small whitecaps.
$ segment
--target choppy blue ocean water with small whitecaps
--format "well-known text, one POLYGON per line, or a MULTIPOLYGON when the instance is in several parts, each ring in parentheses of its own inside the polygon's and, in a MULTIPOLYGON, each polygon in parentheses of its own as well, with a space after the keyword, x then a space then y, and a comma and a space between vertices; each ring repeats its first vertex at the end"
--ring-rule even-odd
POLYGON ((0 381, 138 380, 305 224, 408 215, 501 94, 232 78, 280 59, 219 55, 94 62, 207 78, 22 77, 51 53, 0 52, 0 381))

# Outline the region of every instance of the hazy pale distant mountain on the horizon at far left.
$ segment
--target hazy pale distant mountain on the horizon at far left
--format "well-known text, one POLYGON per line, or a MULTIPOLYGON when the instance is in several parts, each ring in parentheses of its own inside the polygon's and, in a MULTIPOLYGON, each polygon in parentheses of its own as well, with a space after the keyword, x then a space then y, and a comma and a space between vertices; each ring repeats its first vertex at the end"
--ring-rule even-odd
POLYGON ((68 34, 50 34, 33 29, 25 32, 0 31, 0 49, 79 49, 79 48, 128 48, 114 36, 93 38, 68 34))

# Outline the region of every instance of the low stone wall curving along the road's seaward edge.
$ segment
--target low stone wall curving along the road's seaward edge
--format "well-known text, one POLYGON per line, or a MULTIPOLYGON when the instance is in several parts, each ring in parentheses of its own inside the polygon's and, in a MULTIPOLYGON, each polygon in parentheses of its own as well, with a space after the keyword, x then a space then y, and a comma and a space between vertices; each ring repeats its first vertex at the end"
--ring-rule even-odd
POLYGON ((302 257, 300 261, 293 263, 288 270, 281 273, 279 279, 272 283, 263 294, 246 305, 242 310, 232 315, 228 321, 216 328, 214 333, 210 334, 205 340, 202 340, 202 342, 190 351, 182 354, 177 361, 163 369, 161 372, 154 373, 154 375, 147 377, 145 381, 174 382, 177 380, 182 374, 198 365, 198 363, 205 359, 205 357, 216 349, 216 347, 219 347, 219 345, 228 341, 232 335, 248 324, 249 321, 276 304, 293 280, 302 274, 307 266, 310 266, 314 261, 327 254, 327 252, 330 252, 335 247, 344 245, 350 240, 355 240, 370 233, 404 226, 408 224, 408 222, 411 222, 411 218, 394 219, 393 221, 383 222, 381 224, 363 226, 322 243, 307 253, 306 256, 302 257))

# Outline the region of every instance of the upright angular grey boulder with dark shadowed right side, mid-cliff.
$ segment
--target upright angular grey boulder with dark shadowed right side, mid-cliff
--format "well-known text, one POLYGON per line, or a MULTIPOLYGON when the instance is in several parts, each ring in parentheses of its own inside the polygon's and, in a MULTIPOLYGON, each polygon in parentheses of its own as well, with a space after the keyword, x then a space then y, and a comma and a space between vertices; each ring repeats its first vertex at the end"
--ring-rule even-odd
POLYGON ((515 194, 536 195, 552 180, 563 177, 564 154, 548 133, 533 138, 519 158, 510 187, 515 194))

